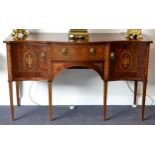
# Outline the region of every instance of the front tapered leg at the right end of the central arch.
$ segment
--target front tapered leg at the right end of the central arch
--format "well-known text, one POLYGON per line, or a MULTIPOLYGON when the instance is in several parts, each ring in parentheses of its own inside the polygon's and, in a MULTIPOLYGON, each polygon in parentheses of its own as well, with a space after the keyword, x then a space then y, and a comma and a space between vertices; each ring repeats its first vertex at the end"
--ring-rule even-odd
POLYGON ((107 112, 107 91, 108 91, 108 82, 104 82, 104 113, 103 120, 106 120, 106 112, 107 112))

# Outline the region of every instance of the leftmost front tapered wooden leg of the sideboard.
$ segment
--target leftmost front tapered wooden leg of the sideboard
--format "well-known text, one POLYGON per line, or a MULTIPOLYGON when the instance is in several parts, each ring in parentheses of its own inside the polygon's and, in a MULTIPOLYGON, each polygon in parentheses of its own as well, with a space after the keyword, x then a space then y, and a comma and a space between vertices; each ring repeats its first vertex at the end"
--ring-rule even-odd
POLYGON ((13 106, 13 82, 9 81, 9 93, 10 93, 10 111, 11 118, 14 120, 14 106, 13 106))

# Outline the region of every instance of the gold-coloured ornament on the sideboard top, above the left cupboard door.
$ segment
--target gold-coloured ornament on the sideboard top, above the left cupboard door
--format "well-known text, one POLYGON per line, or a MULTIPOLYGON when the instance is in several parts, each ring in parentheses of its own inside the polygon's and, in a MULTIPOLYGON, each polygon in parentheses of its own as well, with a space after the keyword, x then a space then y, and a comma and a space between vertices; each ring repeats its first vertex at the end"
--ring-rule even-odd
POLYGON ((28 37, 28 33, 27 29, 13 29, 12 37, 14 40, 24 40, 28 37))

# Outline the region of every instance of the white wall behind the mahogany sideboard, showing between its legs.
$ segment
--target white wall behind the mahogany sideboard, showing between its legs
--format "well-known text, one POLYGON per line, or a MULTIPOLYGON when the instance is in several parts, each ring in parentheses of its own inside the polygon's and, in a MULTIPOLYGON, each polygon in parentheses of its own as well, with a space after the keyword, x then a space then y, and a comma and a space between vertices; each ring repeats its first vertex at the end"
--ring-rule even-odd
MULTIPOLYGON (((35 30, 33 30, 35 31, 35 30)), ((40 29, 38 32, 58 32, 53 29, 40 29)), ((89 32, 98 33, 120 33, 125 29, 89 29, 89 32)), ((149 35, 155 42, 155 30, 143 29, 143 33, 149 35)), ((11 32, 11 29, 4 29, 0 35, 0 104, 9 104, 9 92, 7 84, 7 66, 6 49, 2 41, 11 32)), ((68 29, 59 32, 68 32, 68 29)), ((150 65, 149 65, 149 83, 147 93, 155 99, 155 45, 151 45, 150 65)), ((33 105, 29 98, 29 91, 32 82, 22 82, 22 104, 33 105)), ((133 87, 133 83, 130 82, 133 87)), ((140 85, 141 86, 141 85, 140 85)), ((141 89, 139 89, 141 92, 141 89)), ((14 91, 15 92, 15 91, 14 91)), ((15 95, 15 94, 14 94, 15 95)), ((35 102, 41 105, 48 104, 48 93, 46 82, 34 82, 31 96, 35 102)), ((15 101, 16 103, 16 101, 15 101)), ((127 87, 126 82, 110 82, 108 93, 108 104, 111 105, 131 105, 133 103, 133 94, 127 87)), ((141 104, 141 97, 138 103, 141 104)), ((53 82, 53 104, 54 105, 101 105, 103 104, 103 81, 93 70, 65 70, 61 72, 53 82)), ((154 104, 149 98, 146 104, 154 104)))

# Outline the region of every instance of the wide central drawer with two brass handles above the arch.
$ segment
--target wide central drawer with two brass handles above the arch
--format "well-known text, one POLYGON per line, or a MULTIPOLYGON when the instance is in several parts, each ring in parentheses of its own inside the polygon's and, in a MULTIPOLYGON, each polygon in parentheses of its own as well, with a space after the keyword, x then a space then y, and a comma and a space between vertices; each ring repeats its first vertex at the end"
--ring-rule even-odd
POLYGON ((99 61, 104 60, 105 45, 53 44, 52 60, 99 61))

